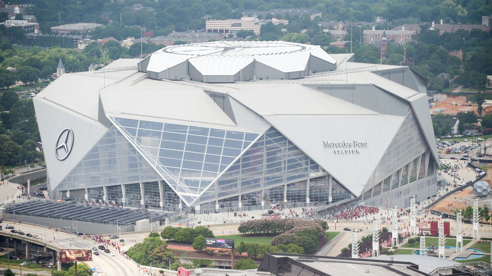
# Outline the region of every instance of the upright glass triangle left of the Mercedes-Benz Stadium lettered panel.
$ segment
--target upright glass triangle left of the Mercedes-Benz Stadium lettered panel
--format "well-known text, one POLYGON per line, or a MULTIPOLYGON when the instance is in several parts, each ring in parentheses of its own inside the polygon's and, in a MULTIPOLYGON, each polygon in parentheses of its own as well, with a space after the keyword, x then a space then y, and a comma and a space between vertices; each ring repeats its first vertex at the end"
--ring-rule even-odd
POLYGON ((325 172, 271 127, 197 202, 205 203, 241 193, 266 191, 271 187, 295 183, 320 174, 325 172))

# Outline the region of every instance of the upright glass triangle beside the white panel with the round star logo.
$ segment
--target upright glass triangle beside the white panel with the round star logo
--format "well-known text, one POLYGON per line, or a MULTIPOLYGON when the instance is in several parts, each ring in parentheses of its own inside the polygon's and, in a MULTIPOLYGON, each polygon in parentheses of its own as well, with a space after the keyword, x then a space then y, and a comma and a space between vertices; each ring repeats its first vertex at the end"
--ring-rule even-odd
POLYGON ((160 179, 149 163, 113 126, 60 182, 59 189, 74 190, 160 179))

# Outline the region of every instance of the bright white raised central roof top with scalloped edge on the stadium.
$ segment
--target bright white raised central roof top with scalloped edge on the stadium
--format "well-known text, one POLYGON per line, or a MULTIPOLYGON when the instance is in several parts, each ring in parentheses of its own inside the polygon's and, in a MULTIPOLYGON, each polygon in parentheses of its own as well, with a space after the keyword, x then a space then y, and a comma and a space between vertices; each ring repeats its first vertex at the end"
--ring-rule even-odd
POLYGON ((189 60, 203 75, 230 75, 257 60, 282 72, 303 71, 310 55, 332 64, 337 62, 316 45, 285 41, 214 41, 158 50, 151 55, 147 70, 162 72, 189 60))

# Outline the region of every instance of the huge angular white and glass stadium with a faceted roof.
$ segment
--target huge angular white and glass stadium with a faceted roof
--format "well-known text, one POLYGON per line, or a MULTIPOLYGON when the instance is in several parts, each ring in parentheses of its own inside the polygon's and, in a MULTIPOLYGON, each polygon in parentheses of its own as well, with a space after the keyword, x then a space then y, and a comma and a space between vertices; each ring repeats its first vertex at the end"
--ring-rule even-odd
POLYGON ((51 197, 197 213, 427 199, 429 80, 353 58, 215 41, 62 74, 33 98, 51 197))

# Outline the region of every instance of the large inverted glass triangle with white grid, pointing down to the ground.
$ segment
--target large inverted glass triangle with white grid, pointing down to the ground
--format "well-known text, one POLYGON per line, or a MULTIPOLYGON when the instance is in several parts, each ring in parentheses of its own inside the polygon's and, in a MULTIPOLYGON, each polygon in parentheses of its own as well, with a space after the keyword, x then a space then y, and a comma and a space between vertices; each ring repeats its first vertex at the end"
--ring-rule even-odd
POLYGON ((259 136, 129 118, 110 119, 188 204, 259 136))

